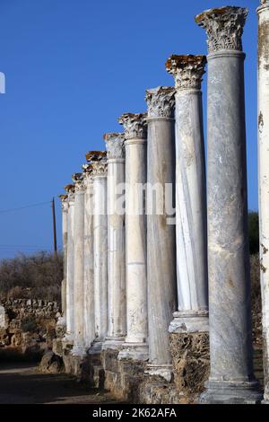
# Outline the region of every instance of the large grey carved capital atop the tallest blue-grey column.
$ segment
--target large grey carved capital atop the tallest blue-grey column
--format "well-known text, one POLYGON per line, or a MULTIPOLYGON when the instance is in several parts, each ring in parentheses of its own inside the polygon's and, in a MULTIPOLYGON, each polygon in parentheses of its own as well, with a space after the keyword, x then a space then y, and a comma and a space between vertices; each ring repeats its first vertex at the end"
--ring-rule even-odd
POLYGON ((221 49, 242 50, 242 33, 247 9, 226 6, 206 10, 195 17, 195 22, 207 32, 209 53, 221 49))

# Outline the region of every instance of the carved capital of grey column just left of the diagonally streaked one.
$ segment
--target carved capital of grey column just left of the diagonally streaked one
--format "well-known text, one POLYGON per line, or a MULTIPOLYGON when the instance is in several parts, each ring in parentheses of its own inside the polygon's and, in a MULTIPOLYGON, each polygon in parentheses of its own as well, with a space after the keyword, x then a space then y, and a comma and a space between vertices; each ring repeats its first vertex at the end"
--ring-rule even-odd
POLYGON ((158 88, 146 90, 145 101, 148 104, 148 117, 173 118, 175 92, 172 86, 158 86, 158 88))

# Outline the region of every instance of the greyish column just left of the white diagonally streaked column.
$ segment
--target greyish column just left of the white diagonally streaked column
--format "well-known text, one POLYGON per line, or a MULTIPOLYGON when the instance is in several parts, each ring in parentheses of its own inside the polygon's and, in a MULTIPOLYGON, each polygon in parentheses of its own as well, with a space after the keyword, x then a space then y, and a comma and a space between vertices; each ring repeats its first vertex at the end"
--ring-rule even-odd
MULTIPOLYGON (((169 322, 177 309, 175 207, 175 90, 146 91, 148 104, 147 183, 157 187, 156 207, 147 212, 149 365, 147 372, 171 378, 169 322), (167 188, 170 189, 167 189, 167 188), (163 200, 164 199, 164 200, 163 200), (160 207, 160 209, 159 209, 160 207)), ((149 203, 149 194, 147 198, 149 203)))

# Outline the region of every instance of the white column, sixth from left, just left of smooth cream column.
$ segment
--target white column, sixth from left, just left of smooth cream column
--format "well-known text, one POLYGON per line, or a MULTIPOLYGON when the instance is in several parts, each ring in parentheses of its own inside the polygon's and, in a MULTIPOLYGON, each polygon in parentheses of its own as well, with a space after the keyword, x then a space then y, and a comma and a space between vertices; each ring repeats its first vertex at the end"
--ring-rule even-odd
POLYGON ((104 139, 108 150, 108 337, 104 347, 118 348, 126 336, 125 138, 112 133, 104 139))

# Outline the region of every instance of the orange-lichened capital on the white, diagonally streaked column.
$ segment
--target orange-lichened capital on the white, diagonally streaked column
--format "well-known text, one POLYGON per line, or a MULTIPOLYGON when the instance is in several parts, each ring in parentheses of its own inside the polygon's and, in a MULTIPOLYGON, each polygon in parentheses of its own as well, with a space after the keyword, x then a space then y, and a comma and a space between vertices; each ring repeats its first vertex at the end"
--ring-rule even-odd
POLYGON ((177 90, 194 88, 201 89, 203 81, 205 56, 176 56, 169 57, 166 69, 175 78, 177 90))

